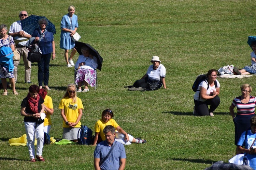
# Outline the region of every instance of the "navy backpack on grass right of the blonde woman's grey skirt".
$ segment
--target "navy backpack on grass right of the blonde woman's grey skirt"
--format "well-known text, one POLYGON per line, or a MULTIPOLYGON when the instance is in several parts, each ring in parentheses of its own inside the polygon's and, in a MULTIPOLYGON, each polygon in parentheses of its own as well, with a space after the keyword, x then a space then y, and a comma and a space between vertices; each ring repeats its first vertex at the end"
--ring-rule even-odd
POLYGON ((79 145, 91 145, 93 143, 93 131, 87 126, 81 125, 77 133, 77 140, 79 145))

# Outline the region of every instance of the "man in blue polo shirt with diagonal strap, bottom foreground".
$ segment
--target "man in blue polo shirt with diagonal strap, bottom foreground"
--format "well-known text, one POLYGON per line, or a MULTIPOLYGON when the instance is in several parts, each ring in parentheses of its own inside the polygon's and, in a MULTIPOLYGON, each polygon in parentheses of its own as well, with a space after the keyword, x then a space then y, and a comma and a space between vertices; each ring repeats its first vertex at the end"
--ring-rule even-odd
POLYGON ((125 169, 126 154, 125 147, 115 141, 115 128, 108 125, 103 130, 106 140, 98 143, 94 151, 94 167, 96 170, 122 170, 125 169), (102 160, 108 155, 111 147, 114 147, 108 158, 102 160), (100 165, 101 164, 101 165, 100 165))

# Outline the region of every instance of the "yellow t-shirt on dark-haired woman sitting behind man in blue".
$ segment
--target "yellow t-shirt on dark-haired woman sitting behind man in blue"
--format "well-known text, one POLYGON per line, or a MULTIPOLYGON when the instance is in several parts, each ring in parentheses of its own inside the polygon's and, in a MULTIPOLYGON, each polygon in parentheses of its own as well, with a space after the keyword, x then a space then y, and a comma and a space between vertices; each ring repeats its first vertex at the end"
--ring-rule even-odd
POLYGON ((114 119, 110 119, 108 122, 105 122, 104 120, 100 119, 94 125, 94 131, 96 133, 99 133, 102 140, 106 140, 105 134, 103 133, 103 129, 107 125, 112 125, 115 129, 119 126, 114 119))

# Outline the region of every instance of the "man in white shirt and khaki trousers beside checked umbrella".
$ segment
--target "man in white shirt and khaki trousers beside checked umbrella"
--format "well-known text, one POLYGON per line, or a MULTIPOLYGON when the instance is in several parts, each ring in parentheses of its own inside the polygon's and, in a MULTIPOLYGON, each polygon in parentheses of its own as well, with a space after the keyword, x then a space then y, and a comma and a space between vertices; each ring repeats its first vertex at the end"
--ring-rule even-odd
MULTIPOLYGON (((23 20, 27 17, 28 17, 28 13, 26 11, 19 12, 20 20, 23 20)), ((26 43, 29 40, 29 38, 31 37, 31 35, 29 35, 28 33, 26 33, 25 31, 22 30, 22 25, 21 25, 20 20, 13 22, 13 24, 11 25, 11 27, 9 29, 9 34, 8 34, 13 37, 16 49, 19 53, 18 59, 13 60, 13 63, 14 63, 13 74, 14 74, 14 79, 15 79, 15 83, 16 83, 17 71, 18 71, 17 66, 18 66, 18 64, 20 62, 20 58, 22 56, 23 62, 25 65, 25 83, 32 83, 30 81, 31 62, 28 61, 28 49, 26 48, 26 43)))

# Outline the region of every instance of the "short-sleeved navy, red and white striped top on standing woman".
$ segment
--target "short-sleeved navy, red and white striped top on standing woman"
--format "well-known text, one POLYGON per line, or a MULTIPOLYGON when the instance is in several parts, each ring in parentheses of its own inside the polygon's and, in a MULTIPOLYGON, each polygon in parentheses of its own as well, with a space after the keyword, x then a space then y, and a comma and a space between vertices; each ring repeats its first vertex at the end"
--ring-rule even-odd
POLYGON ((232 105, 237 106, 237 115, 253 115, 255 114, 256 98, 250 96, 248 103, 241 102, 241 96, 234 98, 232 105))

